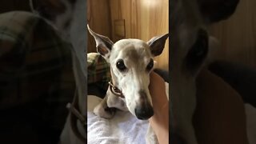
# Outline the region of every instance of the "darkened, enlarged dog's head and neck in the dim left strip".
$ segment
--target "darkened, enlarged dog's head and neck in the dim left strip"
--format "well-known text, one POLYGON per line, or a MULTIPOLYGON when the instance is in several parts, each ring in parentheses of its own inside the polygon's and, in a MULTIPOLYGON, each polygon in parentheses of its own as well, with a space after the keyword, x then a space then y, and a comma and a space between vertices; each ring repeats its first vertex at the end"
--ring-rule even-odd
POLYGON ((45 18, 74 48, 72 61, 77 96, 69 105, 71 113, 62 130, 60 143, 64 144, 86 143, 86 6, 86 0, 30 0, 32 11, 45 18))

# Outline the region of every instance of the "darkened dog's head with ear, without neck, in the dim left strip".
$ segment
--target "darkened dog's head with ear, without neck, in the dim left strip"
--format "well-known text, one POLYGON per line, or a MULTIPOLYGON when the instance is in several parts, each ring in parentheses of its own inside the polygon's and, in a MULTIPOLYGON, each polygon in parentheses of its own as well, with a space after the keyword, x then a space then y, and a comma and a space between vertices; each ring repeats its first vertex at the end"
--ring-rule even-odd
POLYGON ((30 7, 71 42, 86 76, 86 0, 30 0, 30 7))

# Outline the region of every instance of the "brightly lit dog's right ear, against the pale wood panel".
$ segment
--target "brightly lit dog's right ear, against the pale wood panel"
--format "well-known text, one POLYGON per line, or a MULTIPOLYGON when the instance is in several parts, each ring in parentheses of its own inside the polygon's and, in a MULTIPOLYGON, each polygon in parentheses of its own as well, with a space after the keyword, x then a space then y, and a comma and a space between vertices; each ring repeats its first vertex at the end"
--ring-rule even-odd
POLYGON ((147 44, 150 46, 151 54, 158 56, 162 54, 162 50, 165 48, 166 39, 169 37, 169 34, 164 34, 162 36, 151 38, 147 44))

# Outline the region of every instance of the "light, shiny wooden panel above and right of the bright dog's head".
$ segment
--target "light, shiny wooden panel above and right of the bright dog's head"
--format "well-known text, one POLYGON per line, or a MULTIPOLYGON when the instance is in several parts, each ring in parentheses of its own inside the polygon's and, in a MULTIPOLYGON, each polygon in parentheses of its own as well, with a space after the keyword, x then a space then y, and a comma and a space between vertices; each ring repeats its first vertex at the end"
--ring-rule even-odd
MULTIPOLYGON (((139 38, 144 41, 150 38, 168 33, 169 7, 168 0, 110 0, 110 14, 112 30, 114 21, 125 20, 126 38, 139 38)), ((112 32, 112 38, 118 40, 112 32)), ((169 42, 163 53, 155 58, 158 66, 168 70, 169 42)))

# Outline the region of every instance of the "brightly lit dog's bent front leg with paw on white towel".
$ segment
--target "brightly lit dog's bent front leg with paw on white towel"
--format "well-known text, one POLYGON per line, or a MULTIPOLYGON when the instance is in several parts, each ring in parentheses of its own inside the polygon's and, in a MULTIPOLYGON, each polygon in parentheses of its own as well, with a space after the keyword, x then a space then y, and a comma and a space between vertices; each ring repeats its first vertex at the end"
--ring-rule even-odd
POLYGON ((98 106, 96 106, 94 108, 94 114, 98 115, 99 117, 106 118, 106 119, 113 118, 116 109, 114 107, 110 107, 107 105, 106 102, 107 102, 108 98, 109 98, 109 95, 106 94, 106 96, 105 96, 105 98, 103 98, 102 102, 100 102, 98 104, 98 106))

